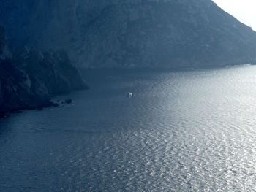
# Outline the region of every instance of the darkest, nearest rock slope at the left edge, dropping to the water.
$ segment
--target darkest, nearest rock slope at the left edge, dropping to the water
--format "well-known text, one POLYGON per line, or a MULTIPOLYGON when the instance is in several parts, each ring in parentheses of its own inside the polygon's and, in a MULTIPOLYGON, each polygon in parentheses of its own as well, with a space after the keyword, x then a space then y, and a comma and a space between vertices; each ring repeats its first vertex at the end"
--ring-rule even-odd
POLYGON ((41 93, 33 90, 33 84, 26 72, 15 67, 10 61, 0 61, 0 116, 7 112, 48 107, 50 95, 44 85, 41 93))

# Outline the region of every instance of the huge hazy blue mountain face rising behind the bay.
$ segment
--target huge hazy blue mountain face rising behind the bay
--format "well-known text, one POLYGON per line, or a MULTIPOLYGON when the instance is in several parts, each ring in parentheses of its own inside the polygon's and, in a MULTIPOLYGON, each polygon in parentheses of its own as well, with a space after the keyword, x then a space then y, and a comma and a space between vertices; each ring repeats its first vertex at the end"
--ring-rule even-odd
POLYGON ((82 67, 256 61, 255 31, 211 0, 10 0, 0 12, 12 48, 64 48, 82 67))

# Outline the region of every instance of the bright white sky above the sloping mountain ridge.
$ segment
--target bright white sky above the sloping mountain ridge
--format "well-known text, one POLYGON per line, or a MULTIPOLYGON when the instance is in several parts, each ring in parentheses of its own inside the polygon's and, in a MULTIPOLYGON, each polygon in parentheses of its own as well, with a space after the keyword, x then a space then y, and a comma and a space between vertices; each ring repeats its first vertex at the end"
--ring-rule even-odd
POLYGON ((256 0, 213 0, 219 7, 256 31, 256 0))

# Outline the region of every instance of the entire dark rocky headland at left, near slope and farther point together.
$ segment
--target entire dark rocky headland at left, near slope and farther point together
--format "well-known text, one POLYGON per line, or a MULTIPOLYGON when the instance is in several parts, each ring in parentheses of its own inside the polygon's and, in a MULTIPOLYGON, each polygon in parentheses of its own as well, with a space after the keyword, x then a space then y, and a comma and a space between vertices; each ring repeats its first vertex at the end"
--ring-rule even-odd
POLYGON ((10 57, 0 26, 0 116, 54 105, 51 96, 87 88, 63 51, 41 53, 25 47, 10 57))

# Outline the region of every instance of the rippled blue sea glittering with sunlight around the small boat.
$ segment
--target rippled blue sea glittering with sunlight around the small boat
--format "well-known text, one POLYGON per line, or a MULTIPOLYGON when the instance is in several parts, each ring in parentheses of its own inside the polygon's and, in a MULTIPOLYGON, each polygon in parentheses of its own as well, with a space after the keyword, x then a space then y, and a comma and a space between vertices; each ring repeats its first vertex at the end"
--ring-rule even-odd
POLYGON ((256 191, 256 66, 83 74, 0 120, 0 191, 256 191))

